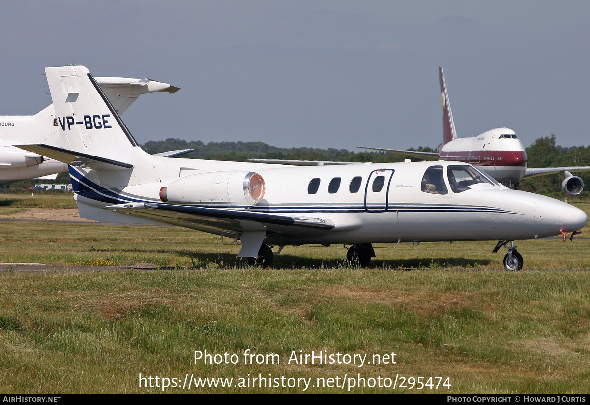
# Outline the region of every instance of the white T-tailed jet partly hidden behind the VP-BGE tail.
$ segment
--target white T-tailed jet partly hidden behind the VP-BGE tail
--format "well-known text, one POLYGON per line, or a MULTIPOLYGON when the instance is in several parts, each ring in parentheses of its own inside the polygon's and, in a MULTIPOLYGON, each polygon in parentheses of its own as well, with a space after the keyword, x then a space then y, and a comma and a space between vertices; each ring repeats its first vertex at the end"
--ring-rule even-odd
MULTIPOLYGON (((152 92, 174 93, 180 90, 168 83, 151 79, 128 77, 95 77, 113 108, 122 114, 141 94, 152 92)), ((19 143, 44 142, 61 145, 58 131, 60 122, 53 105, 35 115, 0 116, 0 184, 32 178, 55 179, 58 173, 67 172, 68 166, 46 156, 24 151, 19 143)), ((167 156, 174 155, 173 151, 167 156)), ((191 149, 192 152, 192 149, 191 149)))

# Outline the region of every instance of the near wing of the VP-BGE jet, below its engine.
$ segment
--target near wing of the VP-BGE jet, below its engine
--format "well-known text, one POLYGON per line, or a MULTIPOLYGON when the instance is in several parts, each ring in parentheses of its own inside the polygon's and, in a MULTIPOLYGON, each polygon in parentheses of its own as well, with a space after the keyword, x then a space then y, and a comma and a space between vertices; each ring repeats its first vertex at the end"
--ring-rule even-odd
POLYGON ((291 217, 228 208, 131 203, 107 205, 104 209, 230 237, 248 231, 301 234, 302 229, 307 229, 310 234, 315 234, 318 231, 329 231, 335 227, 332 221, 322 218, 291 217), (297 228, 297 230, 293 228, 297 228))

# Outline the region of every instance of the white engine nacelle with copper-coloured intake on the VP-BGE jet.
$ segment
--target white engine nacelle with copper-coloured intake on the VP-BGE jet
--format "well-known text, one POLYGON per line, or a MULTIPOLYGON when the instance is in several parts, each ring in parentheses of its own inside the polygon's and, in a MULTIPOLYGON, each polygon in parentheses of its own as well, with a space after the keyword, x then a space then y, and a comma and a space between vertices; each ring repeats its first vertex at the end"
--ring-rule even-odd
POLYGON ((191 174, 160 190, 160 200, 171 204, 254 205, 264 197, 264 179, 258 173, 223 171, 191 174))

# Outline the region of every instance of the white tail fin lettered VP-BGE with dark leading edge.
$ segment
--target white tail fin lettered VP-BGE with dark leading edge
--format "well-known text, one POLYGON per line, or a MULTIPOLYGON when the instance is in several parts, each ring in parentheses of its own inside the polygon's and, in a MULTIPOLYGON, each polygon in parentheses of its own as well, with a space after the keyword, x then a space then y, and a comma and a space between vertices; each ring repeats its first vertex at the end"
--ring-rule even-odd
POLYGON ((121 162, 140 149, 86 67, 48 67, 45 74, 65 149, 121 162))

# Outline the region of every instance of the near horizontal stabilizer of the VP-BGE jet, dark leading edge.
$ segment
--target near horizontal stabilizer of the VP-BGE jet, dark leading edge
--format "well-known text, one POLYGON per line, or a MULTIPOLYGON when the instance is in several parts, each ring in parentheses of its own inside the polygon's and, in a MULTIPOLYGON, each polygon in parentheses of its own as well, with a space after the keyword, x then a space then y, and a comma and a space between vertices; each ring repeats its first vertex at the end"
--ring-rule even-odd
POLYGON ((50 159, 63 162, 67 165, 85 167, 97 170, 122 170, 133 167, 130 163, 118 162, 112 159, 100 158, 99 156, 87 153, 68 151, 68 149, 57 148, 57 146, 44 145, 43 143, 31 143, 28 145, 17 145, 25 151, 39 153, 50 159))

